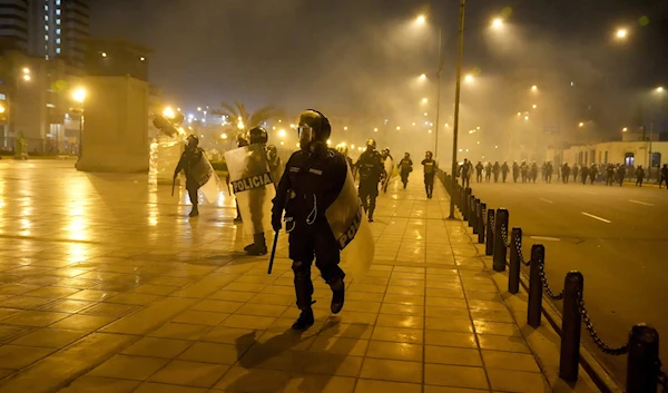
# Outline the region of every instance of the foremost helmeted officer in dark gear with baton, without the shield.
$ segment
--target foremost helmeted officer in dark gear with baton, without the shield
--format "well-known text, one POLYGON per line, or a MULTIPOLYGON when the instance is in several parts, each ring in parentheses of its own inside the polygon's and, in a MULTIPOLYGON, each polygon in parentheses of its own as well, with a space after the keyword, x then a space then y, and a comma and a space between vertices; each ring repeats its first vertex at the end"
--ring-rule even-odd
POLYGON ((314 323, 311 308, 314 257, 315 266, 332 288, 332 313, 337 314, 343 307, 345 274, 338 266, 338 243, 325 212, 341 193, 348 169, 345 157, 327 148, 332 128, 324 115, 314 110, 302 112, 298 129, 302 149, 292 155, 278 183, 272 226, 274 230, 281 230, 281 216, 285 209, 295 295, 302 311, 293 328, 306 330, 314 323))

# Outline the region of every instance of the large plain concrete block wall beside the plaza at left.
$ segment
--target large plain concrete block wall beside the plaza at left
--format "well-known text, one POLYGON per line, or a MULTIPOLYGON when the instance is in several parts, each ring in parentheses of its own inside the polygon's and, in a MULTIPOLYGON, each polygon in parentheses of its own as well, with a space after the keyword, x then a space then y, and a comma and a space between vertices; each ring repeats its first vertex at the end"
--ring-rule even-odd
POLYGON ((129 77, 87 77, 84 136, 77 169, 148 171, 148 83, 129 77))

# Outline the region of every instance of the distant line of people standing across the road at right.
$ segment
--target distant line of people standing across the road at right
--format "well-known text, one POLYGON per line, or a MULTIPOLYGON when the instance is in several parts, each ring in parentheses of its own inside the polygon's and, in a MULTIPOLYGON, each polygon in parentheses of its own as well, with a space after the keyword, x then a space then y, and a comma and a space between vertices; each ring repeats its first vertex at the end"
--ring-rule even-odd
MULTIPOLYGON (((522 161, 518 164, 517 161, 512 163, 512 166, 508 165, 508 161, 503 164, 499 164, 499 161, 485 163, 478 161, 475 166, 473 163, 464 159, 464 161, 459 166, 459 171, 455 174, 456 177, 461 178, 462 186, 469 187, 471 177, 475 173, 477 183, 484 181, 491 183, 492 179, 494 183, 505 183, 508 179, 508 175, 512 174, 513 183, 536 183, 538 179, 538 175, 540 174, 542 180, 544 183, 552 183, 552 175, 557 176, 557 181, 562 181, 563 184, 568 184, 570 177, 572 176, 573 181, 580 181, 582 184, 595 184, 606 181, 607 186, 612 186, 613 184, 619 184, 622 186, 625 180, 636 180, 636 186, 641 187, 644 179, 648 175, 642 166, 635 167, 633 165, 622 165, 622 164, 591 164, 590 166, 577 164, 572 167, 564 163, 557 170, 553 168, 552 163, 543 163, 540 167, 536 161, 527 163, 522 161)), ((659 171, 659 188, 662 187, 664 183, 668 188, 668 164, 664 164, 659 171)))

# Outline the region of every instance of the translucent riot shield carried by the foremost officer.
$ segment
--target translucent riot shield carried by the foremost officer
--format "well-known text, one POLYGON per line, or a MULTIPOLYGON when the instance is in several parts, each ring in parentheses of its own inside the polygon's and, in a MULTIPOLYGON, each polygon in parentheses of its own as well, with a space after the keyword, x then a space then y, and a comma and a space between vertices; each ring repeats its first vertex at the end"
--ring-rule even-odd
POLYGON ((342 250, 342 268, 354 279, 364 277, 373 262, 374 242, 350 168, 343 188, 325 217, 342 250))

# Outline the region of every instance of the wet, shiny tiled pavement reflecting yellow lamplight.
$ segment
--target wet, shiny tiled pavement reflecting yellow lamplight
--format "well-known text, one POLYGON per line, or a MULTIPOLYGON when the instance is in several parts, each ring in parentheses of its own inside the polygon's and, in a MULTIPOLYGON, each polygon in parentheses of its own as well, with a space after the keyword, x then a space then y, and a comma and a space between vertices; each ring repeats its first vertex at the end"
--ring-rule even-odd
POLYGON ((0 163, 0 392, 551 392, 440 185, 379 198, 369 275, 338 316, 316 279, 299 335, 285 238, 268 276, 229 197, 188 220, 149 183, 0 163))

